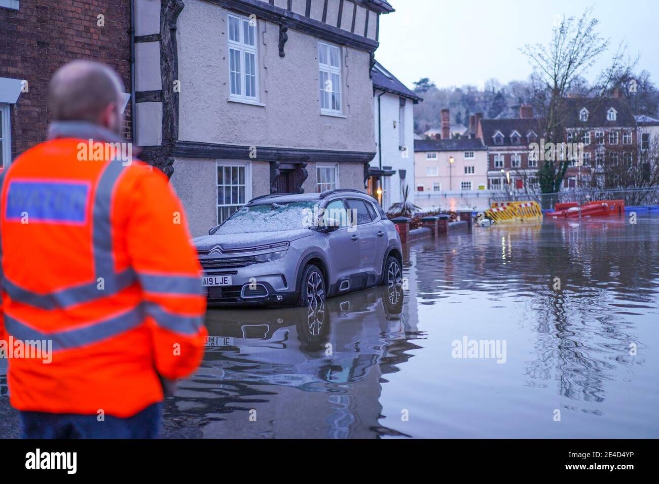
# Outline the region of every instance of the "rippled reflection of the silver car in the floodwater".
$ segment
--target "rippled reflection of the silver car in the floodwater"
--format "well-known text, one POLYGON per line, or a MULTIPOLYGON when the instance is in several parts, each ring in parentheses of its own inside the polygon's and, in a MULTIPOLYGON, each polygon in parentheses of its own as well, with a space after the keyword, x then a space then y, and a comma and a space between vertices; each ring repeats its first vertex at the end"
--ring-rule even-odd
POLYGON ((384 356, 384 333, 405 336, 402 308, 401 286, 391 284, 314 308, 209 311, 204 366, 222 369, 223 381, 306 391, 359 381, 384 356))

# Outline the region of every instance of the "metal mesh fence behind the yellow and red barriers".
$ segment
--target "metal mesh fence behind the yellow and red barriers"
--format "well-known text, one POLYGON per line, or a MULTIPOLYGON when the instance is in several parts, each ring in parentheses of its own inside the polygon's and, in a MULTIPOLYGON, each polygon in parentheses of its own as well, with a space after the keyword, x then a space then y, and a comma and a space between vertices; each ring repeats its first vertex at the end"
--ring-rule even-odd
POLYGON ((659 205, 659 186, 648 188, 614 188, 598 189, 588 188, 585 190, 569 190, 566 192, 547 194, 501 194, 490 196, 492 202, 517 202, 524 200, 535 200, 543 209, 554 209, 559 202, 577 202, 579 205, 593 200, 625 200, 627 206, 650 206, 659 205))

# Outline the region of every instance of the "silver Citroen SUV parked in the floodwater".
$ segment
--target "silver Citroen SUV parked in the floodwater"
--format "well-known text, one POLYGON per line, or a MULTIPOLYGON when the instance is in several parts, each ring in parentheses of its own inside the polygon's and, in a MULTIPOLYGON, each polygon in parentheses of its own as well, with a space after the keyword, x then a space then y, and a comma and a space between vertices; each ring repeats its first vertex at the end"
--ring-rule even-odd
POLYGON ((214 306, 307 306, 402 283, 401 239, 358 190, 254 198, 193 240, 214 306))

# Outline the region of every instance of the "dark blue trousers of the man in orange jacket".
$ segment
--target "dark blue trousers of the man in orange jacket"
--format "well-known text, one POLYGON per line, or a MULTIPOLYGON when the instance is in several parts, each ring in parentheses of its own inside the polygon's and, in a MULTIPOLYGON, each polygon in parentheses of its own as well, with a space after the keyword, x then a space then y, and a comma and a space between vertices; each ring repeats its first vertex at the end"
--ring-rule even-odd
POLYGON ((132 417, 18 412, 24 439, 156 439, 162 404, 148 406, 132 417))

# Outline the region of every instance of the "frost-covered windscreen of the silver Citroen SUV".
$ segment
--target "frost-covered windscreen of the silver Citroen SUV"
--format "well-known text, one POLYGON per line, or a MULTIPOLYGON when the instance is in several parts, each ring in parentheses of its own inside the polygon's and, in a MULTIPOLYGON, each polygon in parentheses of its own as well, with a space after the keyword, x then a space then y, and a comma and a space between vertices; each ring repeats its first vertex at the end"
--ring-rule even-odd
POLYGON ((215 234, 308 229, 314 225, 314 207, 316 206, 317 202, 263 203, 244 206, 235 211, 217 229, 215 234))

